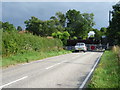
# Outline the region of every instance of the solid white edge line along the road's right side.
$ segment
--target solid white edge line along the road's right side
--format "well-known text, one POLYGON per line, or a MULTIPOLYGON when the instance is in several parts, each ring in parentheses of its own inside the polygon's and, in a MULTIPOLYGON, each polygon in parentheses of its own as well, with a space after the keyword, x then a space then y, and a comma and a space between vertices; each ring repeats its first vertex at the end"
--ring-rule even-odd
MULTIPOLYGON (((103 53, 102 53, 103 54, 103 53)), ((101 56, 102 56, 101 54, 101 56)), ((96 63, 94 64, 93 68, 91 69, 90 73, 87 75, 87 77, 85 78, 85 80, 83 81, 83 83, 81 84, 81 86, 79 88, 84 88, 85 84, 87 83, 88 79, 90 78, 91 74, 93 73, 93 71, 95 70, 95 67, 97 66, 98 62, 100 61, 101 56, 97 59, 96 63)))

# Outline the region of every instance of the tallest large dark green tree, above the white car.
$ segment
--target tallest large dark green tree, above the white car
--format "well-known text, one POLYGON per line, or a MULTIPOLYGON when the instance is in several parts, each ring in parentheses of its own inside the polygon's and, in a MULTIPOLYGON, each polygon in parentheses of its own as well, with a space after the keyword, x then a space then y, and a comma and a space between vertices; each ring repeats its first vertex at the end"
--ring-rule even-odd
POLYGON ((69 10, 66 13, 67 28, 66 30, 72 37, 87 38, 88 31, 94 25, 93 14, 83 13, 76 10, 69 10))

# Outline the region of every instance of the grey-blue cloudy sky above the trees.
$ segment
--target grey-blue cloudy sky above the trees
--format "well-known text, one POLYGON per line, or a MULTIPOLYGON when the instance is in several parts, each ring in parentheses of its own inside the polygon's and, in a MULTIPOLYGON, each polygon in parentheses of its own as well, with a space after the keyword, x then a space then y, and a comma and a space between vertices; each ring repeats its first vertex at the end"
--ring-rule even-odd
POLYGON ((2 2, 2 21, 25 29, 24 21, 35 16, 40 20, 49 20, 56 12, 66 13, 75 9, 80 13, 93 13, 94 28, 109 25, 109 10, 116 2, 2 2))

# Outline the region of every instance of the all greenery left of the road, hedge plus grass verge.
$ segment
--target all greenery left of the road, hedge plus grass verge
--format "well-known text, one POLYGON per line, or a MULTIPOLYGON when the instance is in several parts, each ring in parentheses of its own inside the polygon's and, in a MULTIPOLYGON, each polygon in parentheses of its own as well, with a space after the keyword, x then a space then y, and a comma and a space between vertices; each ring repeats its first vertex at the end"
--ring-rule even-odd
POLYGON ((70 53, 62 49, 60 39, 45 38, 16 31, 2 33, 3 67, 70 53))

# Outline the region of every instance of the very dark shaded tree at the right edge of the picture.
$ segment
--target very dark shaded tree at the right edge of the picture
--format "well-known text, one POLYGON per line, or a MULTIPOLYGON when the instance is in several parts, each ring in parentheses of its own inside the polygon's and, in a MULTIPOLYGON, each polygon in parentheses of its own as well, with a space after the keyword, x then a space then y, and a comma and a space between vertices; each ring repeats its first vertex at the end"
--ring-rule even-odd
POLYGON ((107 30, 109 43, 120 44, 120 3, 113 6, 112 20, 107 30))

